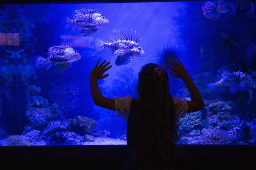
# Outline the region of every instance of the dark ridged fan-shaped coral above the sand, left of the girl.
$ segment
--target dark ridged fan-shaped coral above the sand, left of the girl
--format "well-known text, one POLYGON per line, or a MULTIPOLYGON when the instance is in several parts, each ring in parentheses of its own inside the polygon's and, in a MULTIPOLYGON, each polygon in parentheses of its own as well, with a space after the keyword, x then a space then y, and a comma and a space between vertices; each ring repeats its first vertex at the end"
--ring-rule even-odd
POLYGON ((68 119, 67 121, 70 124, 70 131, 80 136, 92 135, 92 131, 97 125, 94 119, 81 116, 77 116, 75 119, 68 119))

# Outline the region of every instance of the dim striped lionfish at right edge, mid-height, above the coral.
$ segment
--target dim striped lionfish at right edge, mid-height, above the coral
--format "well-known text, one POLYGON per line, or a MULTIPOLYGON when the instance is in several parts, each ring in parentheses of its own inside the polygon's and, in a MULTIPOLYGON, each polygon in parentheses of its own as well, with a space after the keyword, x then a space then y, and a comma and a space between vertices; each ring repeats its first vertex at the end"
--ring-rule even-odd
POLYGON ((232 94, 249 92, 250 99, 247 105, 252 102, 252 91, 256 88, 256 79, 253 79, 251 75, 242 72, 241 66, 238 64, 238 68, 233 64, 231 66, 224 66, 218 70, 220 75, 217 75, 218 82, 207 83, 209 88, 217 88, 219 92, 229 89, 232 94))

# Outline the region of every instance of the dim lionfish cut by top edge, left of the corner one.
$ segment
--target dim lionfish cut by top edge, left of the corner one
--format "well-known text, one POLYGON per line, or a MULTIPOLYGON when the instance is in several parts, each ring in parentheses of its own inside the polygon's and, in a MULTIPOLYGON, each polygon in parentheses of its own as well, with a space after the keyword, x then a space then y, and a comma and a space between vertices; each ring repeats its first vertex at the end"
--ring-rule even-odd
POLYGON ((203 15, 212 20, 218 20, 221 13, 229 13, 234 15, 236 13, 236 7, 227 0, 206 1, 202 4, 203 15))

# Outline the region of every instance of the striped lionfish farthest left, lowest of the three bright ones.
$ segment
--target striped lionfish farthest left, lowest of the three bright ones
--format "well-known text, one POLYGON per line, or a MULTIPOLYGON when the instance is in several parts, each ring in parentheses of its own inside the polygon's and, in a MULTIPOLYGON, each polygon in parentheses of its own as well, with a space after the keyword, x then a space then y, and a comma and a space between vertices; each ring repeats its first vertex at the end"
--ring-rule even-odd
POLYGON ((72 62, 81 59, 80 53, 72 49, 70 46, 52 46, 48 49, 49 56, 45 59, 40 55, 34 58, 34 65, 38 69, 49 69, 54 65, 54 71, 58 74, 63 73, 72 62))

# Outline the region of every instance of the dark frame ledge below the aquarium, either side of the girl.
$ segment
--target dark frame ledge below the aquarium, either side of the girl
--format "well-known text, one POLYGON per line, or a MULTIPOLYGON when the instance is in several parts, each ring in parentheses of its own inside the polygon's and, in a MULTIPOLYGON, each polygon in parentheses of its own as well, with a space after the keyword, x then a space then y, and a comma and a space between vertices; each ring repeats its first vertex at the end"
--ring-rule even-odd
MULTIPOLYGON (((256 146, 182 145, 177 170, 256 170, 256 146)), ((126 146, 0 146, 8 170, 119 170, 126 146)), ((2 168, 1 168, 2 169, 2 168)))

